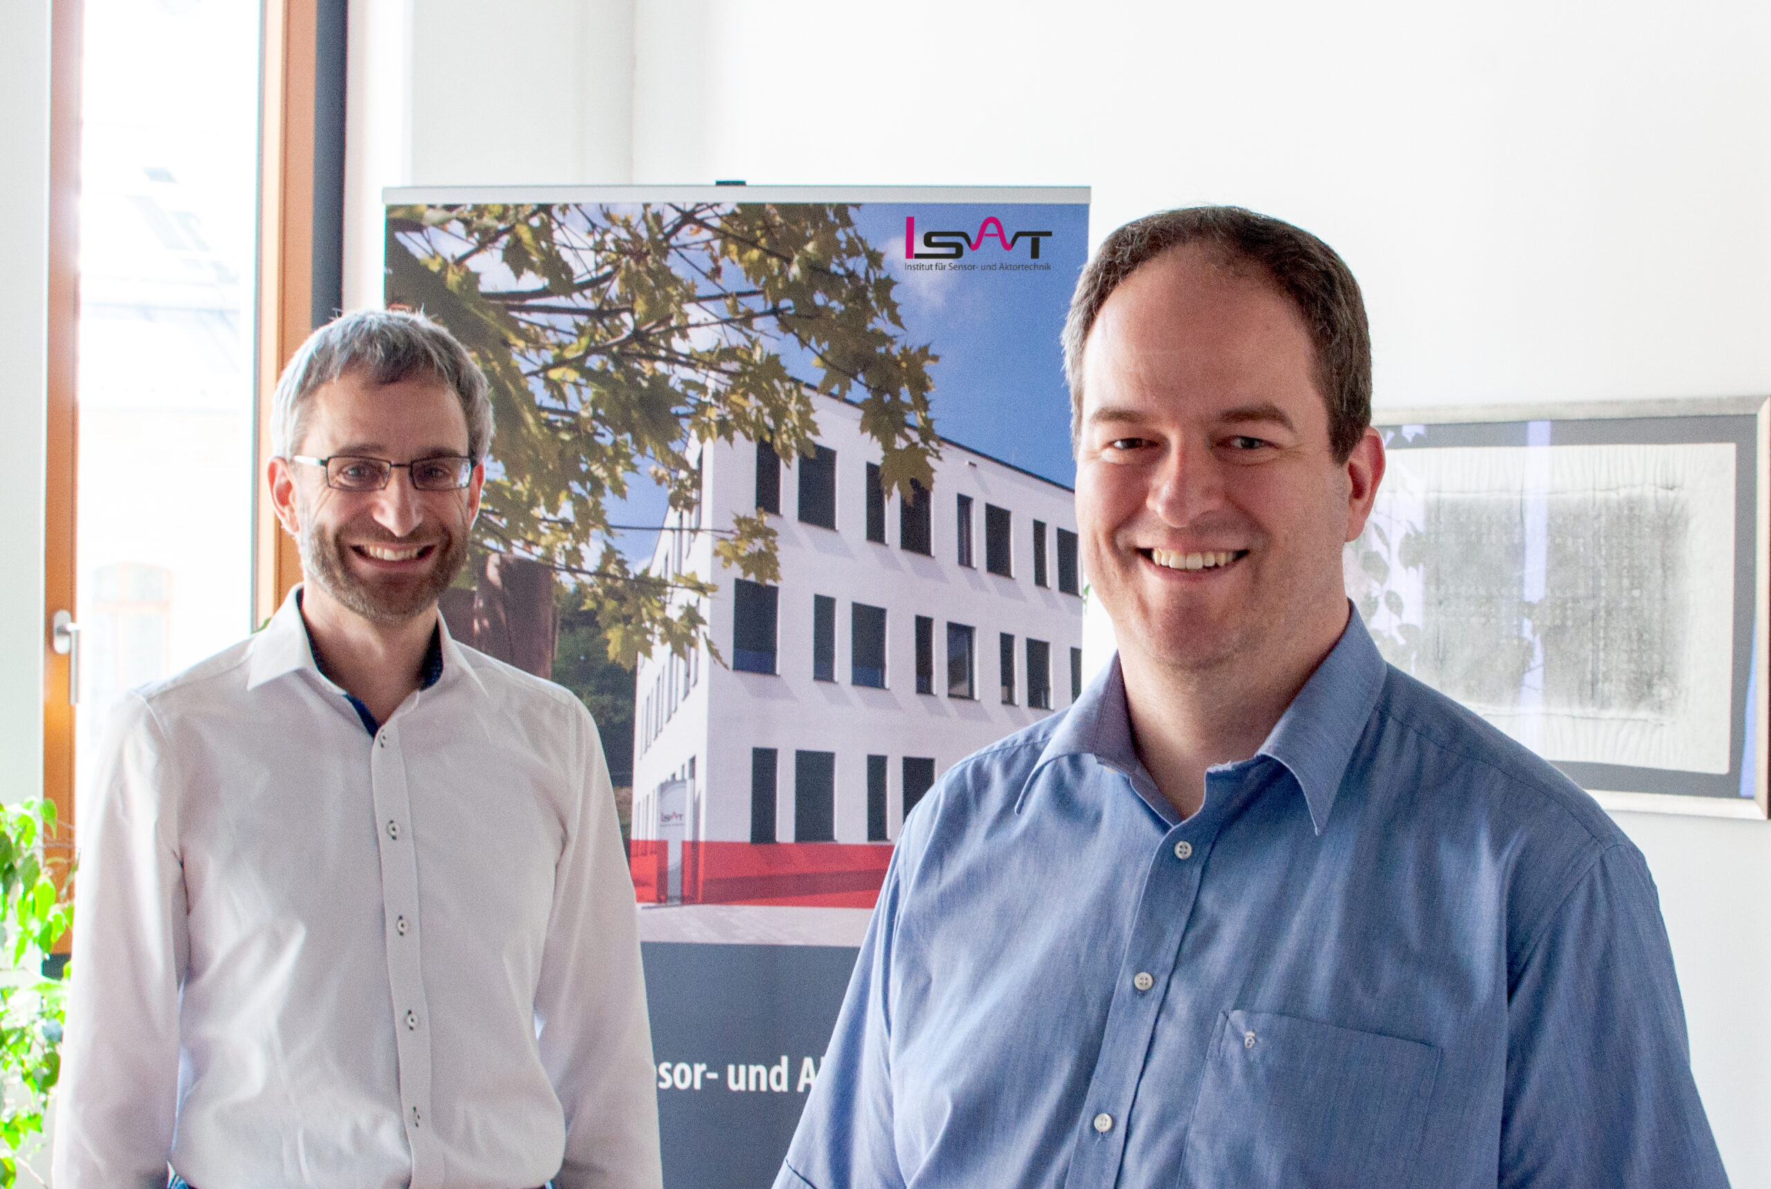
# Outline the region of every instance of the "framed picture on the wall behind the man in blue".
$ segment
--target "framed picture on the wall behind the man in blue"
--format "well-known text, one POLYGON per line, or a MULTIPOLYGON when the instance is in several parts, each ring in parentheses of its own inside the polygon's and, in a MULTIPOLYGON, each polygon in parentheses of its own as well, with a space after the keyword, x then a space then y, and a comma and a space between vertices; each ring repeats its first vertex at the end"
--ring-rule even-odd
POLYGON ((1767 815, 1771 400, 1380 409, 1383 656, 1608 810, 1767 815))

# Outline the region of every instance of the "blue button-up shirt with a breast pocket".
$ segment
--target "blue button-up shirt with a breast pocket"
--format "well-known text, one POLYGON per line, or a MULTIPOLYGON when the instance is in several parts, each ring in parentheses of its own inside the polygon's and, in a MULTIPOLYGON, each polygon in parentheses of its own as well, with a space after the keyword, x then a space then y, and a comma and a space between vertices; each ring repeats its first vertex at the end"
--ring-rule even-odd
POLYGON ((1642 854, 1355 613, 1185 822, 1118 661, 955 765, 776 1189, 1725 1184, 1642 854))

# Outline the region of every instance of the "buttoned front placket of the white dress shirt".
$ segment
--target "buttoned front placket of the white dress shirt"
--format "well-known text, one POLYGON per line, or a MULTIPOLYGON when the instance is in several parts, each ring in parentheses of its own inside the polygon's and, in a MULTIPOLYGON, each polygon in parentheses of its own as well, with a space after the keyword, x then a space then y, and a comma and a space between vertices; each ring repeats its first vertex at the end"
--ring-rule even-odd
POLYGON ((418 852, 406 757, 400 750, 400 711, 395 711, 375 735, 368 774, 381 845, 381 904, 386 920, 388 991, 393 996, 400 1115, 413 1152, 411 1185, 425 1189, 441 1184, 443 1155, 432 1134, 430 1008, 418 960, 423 934, 418 913, 418 852))

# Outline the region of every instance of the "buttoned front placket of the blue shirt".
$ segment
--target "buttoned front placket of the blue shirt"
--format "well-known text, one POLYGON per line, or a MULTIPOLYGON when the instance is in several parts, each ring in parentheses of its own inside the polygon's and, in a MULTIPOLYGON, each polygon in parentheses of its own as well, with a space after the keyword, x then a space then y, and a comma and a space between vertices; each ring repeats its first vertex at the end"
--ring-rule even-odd
MULTIPOLYGON (((1130 778, 1116 769, 1100 765, 1096 778, 1119 785, 1103 789, 1102 796, 1137 796, 1130 778)), ((1234 780, 1229 773, 1208 773, 1206 808, 1169 828, 1149 859, 1125 957, 1116 971, 1094 1076, 1077 1120, 1066 1189, 1107 1189, 1119 1182, 1144 1056, 1156 1031, 1169 980, 1187 976, 1185 971, 1176 973, 1181 939, 1199 898, 1206 858, 1224 820, 1227 783, 1234 780), (1220 787, 1224 792, 1217 792, 1220 787)))

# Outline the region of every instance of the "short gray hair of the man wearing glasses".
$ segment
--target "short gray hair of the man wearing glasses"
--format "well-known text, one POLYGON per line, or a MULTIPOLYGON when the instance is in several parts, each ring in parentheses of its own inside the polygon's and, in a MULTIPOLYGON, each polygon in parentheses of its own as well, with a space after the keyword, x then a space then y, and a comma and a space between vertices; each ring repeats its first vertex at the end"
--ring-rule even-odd
POLYGON ((313 393, 340 376, 360 374, 377 385, 429 376, 450 388, 468 418, 468 455, 485 461, 492 448, 492 399, 485 374, 455 335, 423 314, 356 310, 308 335, 276 381, 271 409, 271 452, 287 459, 306 432, 313 393))

